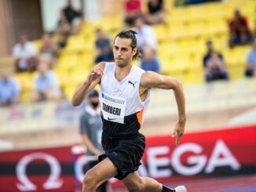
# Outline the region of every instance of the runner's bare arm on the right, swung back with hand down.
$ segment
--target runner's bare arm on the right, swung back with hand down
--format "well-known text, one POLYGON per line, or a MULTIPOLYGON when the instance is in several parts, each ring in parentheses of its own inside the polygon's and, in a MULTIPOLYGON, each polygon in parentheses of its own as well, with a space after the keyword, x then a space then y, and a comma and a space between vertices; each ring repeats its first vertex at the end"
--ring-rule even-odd
POLYGON ((141 76, 140 84, 140 96, 145 98, 145 95, 150 88, 159 88, 159 89, 173 89, 174 96, 177 102, 177 110, 179 119, 173 131, 173 136, 176 137, 176 144, 178 144, 183 136, 185 129, 185 96, 182 89, 181 82, 178 82, 175 78, 170 78, 168 76, 160 75, 155 72, 145 72, 141 76))

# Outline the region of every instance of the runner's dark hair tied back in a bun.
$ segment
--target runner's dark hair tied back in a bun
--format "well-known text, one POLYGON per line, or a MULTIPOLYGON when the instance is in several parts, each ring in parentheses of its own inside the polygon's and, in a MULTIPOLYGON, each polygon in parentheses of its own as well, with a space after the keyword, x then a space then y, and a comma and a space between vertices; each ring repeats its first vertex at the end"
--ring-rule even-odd
MULTIPOLYGON (((132 49, 135 49, 135 48, 137 48, 137 38, 136 38, 135 34, 137 34, 137 32, 133 31, 133 30, 121 31, 121 32, 119 32, 119 34, 116 34, 115 38, 117 38, 117 37, 130 38, 132 40, 130 46, 132 47, 132 49)), ((114 43, 115 43, 115 39, 114 39, 114 43)), ((141 57, 141 51, 139 49, 137 49, 137 53, 133 56, 133 60, 140 58, 140 57, 141 57)))

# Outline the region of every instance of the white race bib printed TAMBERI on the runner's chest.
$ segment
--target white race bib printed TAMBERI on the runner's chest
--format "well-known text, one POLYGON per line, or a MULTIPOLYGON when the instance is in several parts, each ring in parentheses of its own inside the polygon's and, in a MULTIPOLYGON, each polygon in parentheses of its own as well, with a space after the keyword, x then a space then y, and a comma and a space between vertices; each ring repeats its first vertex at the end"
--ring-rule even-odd
POLYGON ((124 123, 126 100, 101 93, 101 111, 105 120, 124 123))

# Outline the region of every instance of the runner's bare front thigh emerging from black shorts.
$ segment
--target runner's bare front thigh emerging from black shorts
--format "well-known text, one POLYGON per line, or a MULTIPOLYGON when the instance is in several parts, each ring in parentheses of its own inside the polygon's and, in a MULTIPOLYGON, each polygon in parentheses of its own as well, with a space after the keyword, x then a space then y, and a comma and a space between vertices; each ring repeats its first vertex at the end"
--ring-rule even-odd
POLYGON ((104 183, 104 181, 117 175, 117 169, 113 165, 112 161, 109 160, 109 158, 105 158, 103 161, 99 162, 97 165, 91 168, 88 172, 90 172, 91 176, 96 177, 97 181, 100 183, 104 183))

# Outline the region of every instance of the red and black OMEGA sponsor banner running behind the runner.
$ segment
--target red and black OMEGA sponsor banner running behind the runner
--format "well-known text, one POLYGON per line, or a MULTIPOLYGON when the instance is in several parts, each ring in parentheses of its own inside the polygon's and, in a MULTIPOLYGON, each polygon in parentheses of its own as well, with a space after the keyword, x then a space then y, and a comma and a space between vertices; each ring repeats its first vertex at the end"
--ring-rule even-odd
MULTIPOLYGON (((256 126, 188 133, 178 146, 170 136, 148 137, 139 172, 163 183, 255 174, 255 138, 256 126)), ((0 153, 0 191, 79 189, 90 158, 71 149, 74 147, 0 153)), ((122 184, 116 179, 110 183, 112 187, 122 184)))

